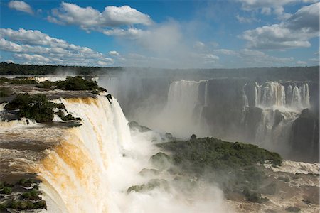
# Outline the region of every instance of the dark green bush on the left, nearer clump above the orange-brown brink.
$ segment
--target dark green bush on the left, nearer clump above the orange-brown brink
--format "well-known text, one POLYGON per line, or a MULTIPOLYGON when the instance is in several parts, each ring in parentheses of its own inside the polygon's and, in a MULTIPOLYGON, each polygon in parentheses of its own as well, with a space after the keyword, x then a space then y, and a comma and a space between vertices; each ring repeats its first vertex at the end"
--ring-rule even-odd
POLYGON ((20 118, 26 117, 28 119, 34 119, 39 123, 53 120, 53 108, 60 109, 56 114, 60 116, 63 121, 81 120, 73 117, 71 114, 65 116, 63 111, 61 111, 61 109, 65 110, 65 105, 50 102, 44 94, 18 94, 9 104, 4 106, 6 110, 18 110, 17 114, 20 118))

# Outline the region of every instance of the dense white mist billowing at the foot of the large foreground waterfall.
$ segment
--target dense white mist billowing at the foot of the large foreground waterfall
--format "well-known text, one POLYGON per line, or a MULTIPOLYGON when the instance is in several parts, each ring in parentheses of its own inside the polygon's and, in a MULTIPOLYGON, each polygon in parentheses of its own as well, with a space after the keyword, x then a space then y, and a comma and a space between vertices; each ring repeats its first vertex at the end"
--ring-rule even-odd
POLYGON ((151 155, 161 151, 155 144, 165 142, 160 133, 132 129, 131 134, 132 143, 124 150, 124 158, 112 161, 108 168, 111 212, 233 212, 215 185, 193 180, 196 185, 191 186, 192 180, 176 180, 178 176, 167 171, 173 165, 168 163, 161 170, 151 163, 151 155), (158 173, 142 173, 146 169, 156 169, 158 173), (127 191, 152 180, 161 180, 163 184, 151 190, 127 191))

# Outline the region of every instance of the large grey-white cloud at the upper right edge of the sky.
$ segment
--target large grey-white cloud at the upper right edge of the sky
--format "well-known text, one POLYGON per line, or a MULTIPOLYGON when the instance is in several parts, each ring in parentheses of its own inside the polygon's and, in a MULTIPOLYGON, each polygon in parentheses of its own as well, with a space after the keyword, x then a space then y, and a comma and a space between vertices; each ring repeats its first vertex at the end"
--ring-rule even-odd
POLYGON ((240 37, 249 48, 308 48, 310 38, 319 36, 320 3, 304 6, 287 21, 245 31, 240 37))

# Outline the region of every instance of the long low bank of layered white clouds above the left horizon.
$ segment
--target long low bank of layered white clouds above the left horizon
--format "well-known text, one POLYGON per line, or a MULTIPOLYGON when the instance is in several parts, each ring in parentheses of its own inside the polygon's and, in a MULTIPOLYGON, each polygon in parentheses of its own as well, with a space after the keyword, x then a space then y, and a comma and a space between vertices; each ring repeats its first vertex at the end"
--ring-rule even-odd
POLYGON ((35 64, 112 65, 114 60, 87 47, 52 38, 41 31, 0 28, 0 50, 35 64), (100 61, 100 62, 99 62, 100 61), (99 63, 98 63, 99 62, 99 63))

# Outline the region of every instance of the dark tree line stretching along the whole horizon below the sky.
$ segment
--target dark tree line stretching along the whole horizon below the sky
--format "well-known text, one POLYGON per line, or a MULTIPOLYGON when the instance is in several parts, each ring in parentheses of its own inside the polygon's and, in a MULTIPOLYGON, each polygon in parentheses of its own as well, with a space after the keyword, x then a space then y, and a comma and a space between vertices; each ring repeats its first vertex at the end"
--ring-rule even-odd
POLYGON ((68 65, 20 65, 0 63, 0 75, 57 75, 71 72, 76 75, 117 74, 129 70, 137 74, 149 74, 150 70, 158 75, 201 75, 203 77, 248 77, 273 80, 319 80, 319 66, 312 67, 252 67, 252 68, 212 68, 212 69, 154 69, 137 67, 81 67, 68 65))

